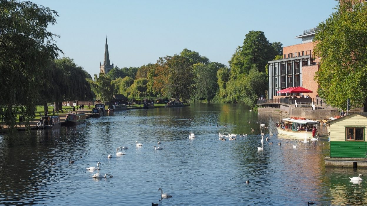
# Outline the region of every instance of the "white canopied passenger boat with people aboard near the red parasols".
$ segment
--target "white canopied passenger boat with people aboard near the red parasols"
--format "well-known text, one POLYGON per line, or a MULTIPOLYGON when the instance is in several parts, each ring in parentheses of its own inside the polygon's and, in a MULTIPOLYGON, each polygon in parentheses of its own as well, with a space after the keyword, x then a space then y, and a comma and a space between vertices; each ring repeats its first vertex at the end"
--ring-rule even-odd
POLYGON ((317 124, 319 122, 306 119, 306 118, 285 118, 283 119, 283 126, 278 126, 278 133, 281 135, 287 135, 295 137, 297 139, 306 139, 308 137, 312 138, 317 133, 317 124), (301 128, 304 128, 303 130, 301 128))

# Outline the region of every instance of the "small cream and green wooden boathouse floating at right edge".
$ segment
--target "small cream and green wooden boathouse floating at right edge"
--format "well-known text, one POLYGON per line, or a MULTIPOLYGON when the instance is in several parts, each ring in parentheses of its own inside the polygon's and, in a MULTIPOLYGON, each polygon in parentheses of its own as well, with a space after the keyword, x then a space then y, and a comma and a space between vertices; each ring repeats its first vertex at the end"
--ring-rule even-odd
POLYGON ((325 166, 367 168, 367 112, 352 113, 330 124, 330 157, 325 166))

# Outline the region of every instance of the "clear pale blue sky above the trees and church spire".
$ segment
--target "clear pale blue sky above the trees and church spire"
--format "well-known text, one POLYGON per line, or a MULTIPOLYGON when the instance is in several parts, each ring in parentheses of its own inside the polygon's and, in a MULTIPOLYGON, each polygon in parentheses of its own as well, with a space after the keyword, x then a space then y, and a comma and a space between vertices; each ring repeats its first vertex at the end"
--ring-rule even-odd
POLYGON ((56 10, 59 48, 93 74, 110 61, 118 67, 156 63, 188 48, 212 62, 228 60, 245 35, 260 30, 270 42, 299 44, 295 36, 329 17, 335 0, 31 0, 56 10))

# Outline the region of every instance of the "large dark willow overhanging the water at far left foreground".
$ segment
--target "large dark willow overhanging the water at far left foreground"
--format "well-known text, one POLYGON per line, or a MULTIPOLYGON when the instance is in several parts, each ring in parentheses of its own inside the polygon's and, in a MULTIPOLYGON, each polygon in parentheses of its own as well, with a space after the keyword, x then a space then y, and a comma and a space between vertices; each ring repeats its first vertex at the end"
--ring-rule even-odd
POLYGON ((46 68, 62 53, 47 31, 58 14, 30 1, 1 0, 0 8, 0 128, 14 135, 18 115, 29 126, 46 68))

